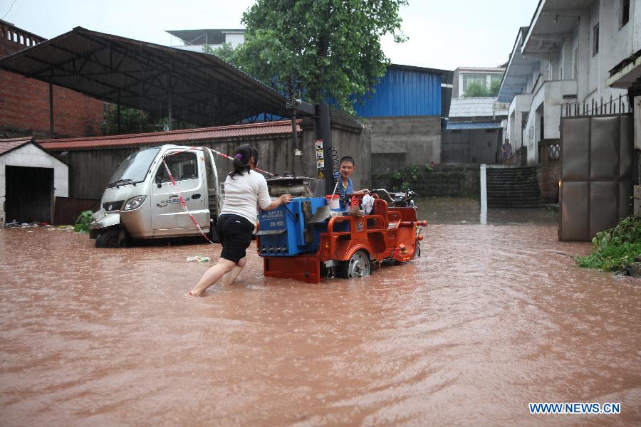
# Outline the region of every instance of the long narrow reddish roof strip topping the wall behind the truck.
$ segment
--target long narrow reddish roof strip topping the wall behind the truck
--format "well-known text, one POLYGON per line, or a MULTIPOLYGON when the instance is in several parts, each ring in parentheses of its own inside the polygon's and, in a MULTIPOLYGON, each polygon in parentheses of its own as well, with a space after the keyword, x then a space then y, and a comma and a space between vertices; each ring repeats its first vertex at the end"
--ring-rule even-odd
MULTIPOLYGON (((300 124, 301 120, 297 120, 300 124)), ((296 130, 301 132, 297 125, 296 130)), ((51 152, 74 151, 81 149, 104 149, 140 147, 143 145, 193 144, 194 142, 247 137, 291 135, 291 122, 255 123, 251 125, 232 125, 201 127, 188 130, 170 130, 134 135, 110 135, 108 137, 41 139, 39 144, 51 152)))

